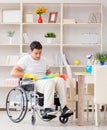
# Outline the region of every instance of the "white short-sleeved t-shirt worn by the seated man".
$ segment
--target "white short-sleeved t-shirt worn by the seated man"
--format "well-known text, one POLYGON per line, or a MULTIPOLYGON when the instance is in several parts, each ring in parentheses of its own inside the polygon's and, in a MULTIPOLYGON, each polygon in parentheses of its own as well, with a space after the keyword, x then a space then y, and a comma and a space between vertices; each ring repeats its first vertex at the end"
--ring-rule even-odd
POLYGON ((49 69, 45 58, 41 57, 40 60, 34 60, 31 55, 23 56, 17 63, 25 73, 36 75, 42 78, 46 75, 46 70, 49 69))

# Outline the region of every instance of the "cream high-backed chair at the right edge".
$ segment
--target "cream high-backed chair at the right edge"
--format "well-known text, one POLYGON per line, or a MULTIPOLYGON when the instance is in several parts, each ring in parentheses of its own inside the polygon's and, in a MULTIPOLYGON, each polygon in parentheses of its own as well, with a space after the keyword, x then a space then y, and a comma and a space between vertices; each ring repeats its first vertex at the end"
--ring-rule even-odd
POLYGON ((100 122, 100 105, 107 104, 107 65, 96 66, 94 71, 95 125, 100 122))

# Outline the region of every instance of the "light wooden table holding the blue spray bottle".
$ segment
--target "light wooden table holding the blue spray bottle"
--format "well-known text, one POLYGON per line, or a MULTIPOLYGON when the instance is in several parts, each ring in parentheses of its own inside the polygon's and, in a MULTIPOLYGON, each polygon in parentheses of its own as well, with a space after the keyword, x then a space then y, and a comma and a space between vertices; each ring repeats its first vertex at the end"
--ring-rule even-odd
POLYGON ((85 76, 93 76, 85 72, 76 72, 78 81, 78 125, 84 125, 84 84, 85 76))

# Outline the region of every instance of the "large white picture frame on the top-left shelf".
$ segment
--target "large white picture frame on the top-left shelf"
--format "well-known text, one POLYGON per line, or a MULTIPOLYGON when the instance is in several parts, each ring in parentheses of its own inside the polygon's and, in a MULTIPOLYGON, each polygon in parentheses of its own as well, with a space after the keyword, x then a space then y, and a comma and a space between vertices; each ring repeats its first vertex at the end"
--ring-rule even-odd
POLYGON ((21 22, 20 10, 11 10, 11 9, 2 10, 2 22, 20 23, 21 22))

